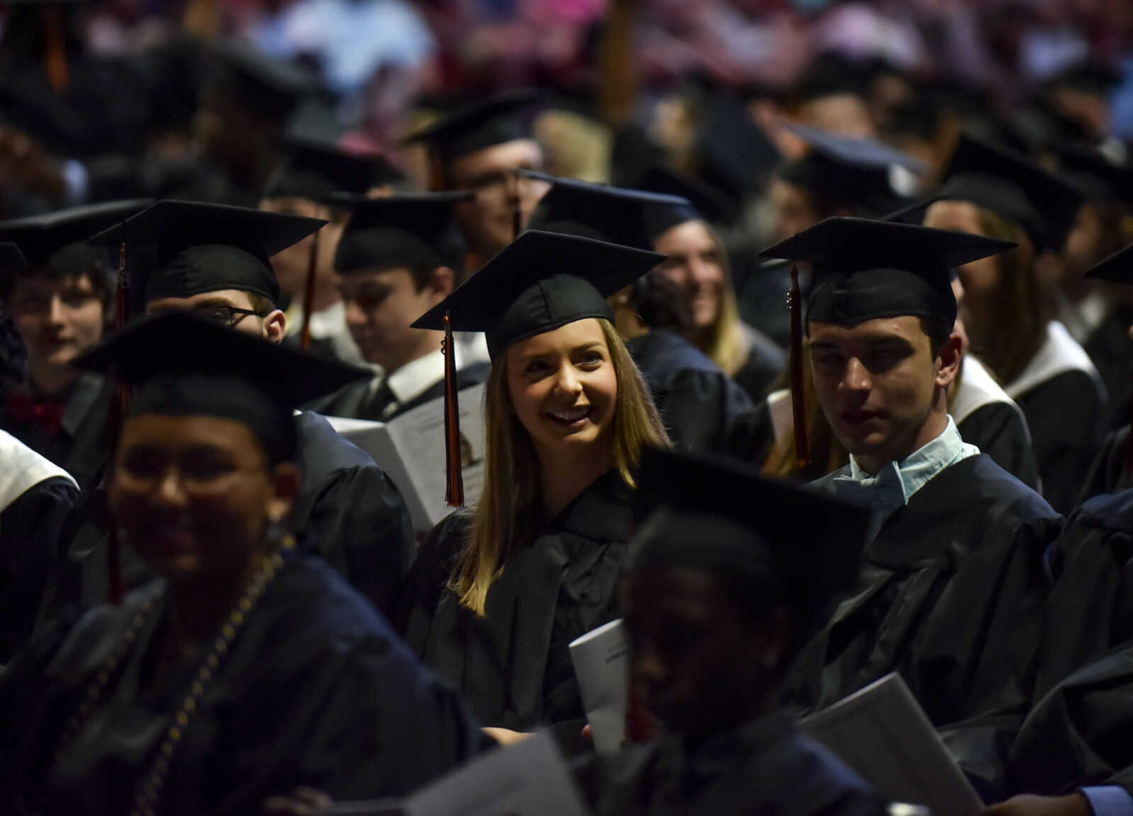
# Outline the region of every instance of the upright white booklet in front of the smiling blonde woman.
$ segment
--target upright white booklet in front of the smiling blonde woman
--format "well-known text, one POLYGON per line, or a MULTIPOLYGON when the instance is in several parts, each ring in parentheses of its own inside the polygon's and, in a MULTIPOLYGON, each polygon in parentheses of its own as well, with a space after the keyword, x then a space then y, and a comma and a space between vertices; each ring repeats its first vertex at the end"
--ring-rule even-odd
POLYGON ((612 620, 570 644, 582 707, 599 754, 612 754, 625 737, 630 644, 621 620, 612 620))

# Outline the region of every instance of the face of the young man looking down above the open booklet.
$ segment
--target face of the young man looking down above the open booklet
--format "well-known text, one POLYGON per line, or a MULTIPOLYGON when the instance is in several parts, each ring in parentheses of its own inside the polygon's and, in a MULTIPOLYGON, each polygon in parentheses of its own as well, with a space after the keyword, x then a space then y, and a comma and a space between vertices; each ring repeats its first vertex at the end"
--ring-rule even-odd
POLYGON ((410 325, 452 291, 452 273, 444 273, 446 285, 419 290, 406 268, 341 276, 339 291, 346 302, 347 326, 368 362, 389 373, 435 347, 435 332, 410 325))

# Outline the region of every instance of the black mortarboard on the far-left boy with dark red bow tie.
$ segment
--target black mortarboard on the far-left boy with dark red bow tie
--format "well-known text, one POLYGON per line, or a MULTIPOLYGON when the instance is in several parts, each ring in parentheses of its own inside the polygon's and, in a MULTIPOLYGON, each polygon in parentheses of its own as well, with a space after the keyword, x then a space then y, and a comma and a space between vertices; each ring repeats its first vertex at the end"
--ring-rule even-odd
MULTIPOLYGON (((43 215, 12 218, 0 222, 0 241, 11 241, 19 246, 24 257, 27 258, 28 266, 34 272, 42 267, 54 266, 56 256, 60 255, 60 250, 73 244, 85 244, 92 235, 114 224, 120 224, 145 209, 150 204, 150 199, 137 198, 69 207, 43 215)), ((80 252, 82 257, 76 257, 74 252, 68 252, 67 258, 60 257, 59 260, 73 264, 68 265, 66 269, 59 269, 59 272, 90 272, 91 264, 100 257, 100 251, 85 246, 83 249, 85 254, 80 252), (83 258, 86 259, 85 267, 79 264, 73 268, 74 261, 82 261, 83 258)), ((118 248, 114 247, 114 249, 118 248)))

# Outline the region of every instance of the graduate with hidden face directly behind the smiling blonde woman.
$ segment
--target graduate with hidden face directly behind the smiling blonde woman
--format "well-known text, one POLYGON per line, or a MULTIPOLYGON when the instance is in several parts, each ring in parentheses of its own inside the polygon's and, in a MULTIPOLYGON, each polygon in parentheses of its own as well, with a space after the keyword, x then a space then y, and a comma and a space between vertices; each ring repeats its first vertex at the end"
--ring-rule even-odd
MULTIPOLYGON (((655 221, 667 224, 673 218, 691 217, 691 205, 680 196, 556 179, 542 173, 538 178, 553 182, 553 186, 531 214, 531 229, 648 250, 653 248, 649 224, 655 221)), ((624 306, 627 295, 644 295, 647 289, 656 291, 653 281, 659 276, 658 267, 647 278, 634 282, 638 287, 636 295, 620 292, 614 297, 614 303, 621 301, 624 306)), ((689 316, 687 323, 692 330, 696 310, 687 295, 687 282, 674 283, 671 276, 666 276, 665 283, 670 286, 668 291, 675 289, 683 301, 679 307, 689 316)), ((625 311, 624 308, 615 310, 619 317, 616 325, 649 386, 673 443, 689 450, 725 449, 730 428, 751 407, 742 387, 730 381, 721 367, 691 341, 673 332, 630 320, 625 311)), ((751 353, 756 354, 756 351, 751 353)), ((767 354, 757 357, 764 361, 760 366, 768 370, 782 368, 778 349, 770 359, 767 354)))

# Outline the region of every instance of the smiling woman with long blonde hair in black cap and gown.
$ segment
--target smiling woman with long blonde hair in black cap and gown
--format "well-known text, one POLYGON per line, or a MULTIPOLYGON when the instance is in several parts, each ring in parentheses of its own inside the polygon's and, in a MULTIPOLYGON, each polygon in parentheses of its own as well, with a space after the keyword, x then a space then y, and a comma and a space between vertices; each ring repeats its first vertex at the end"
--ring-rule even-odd
POLYGON ((581 729, 568 646, 615 617, 634 470, 668 444, 605 299, 658 260, 528 231, 415 324, 492 351, 483 492, 423 546, 399 620, 486 725, 581 729))

